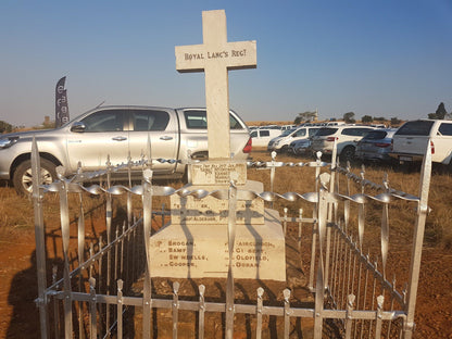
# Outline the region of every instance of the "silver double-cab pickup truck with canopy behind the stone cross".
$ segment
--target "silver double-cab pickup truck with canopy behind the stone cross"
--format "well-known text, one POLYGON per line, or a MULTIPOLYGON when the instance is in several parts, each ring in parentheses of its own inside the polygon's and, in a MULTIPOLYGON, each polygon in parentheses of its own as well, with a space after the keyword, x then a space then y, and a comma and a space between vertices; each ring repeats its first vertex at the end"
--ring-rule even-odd
MULTIPOLYGON (((231 155, 246 160, 251 151, 249 129, 233 111, 229 121, 231 155)), ((33 137, 41 158, 42 183, 50 184, 59 165, 71 175, 78 162, 83 171, 98 171, 105 168, 108 155, 113 165, 126 163, 128 155, 139 160, 147 154, 148 136, 152 159, 179 161, 153 162, 154 175, 181 178, 188 153, 192 159, 209 156, 206 126, 205 109, 96 108, 56 129, 0 135, 0 179, 12 180, 21 193, 32 191, 33 137)))

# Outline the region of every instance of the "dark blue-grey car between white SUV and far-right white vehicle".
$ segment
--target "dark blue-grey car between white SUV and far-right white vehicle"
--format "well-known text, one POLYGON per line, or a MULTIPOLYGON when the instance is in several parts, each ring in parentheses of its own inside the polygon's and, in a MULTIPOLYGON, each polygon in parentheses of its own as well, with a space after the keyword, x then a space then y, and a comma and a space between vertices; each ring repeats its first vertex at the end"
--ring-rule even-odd
POLYGON ((362 161, 390 161, 392 136, 397 128, 371 130, 357 142, 355 155, 362 161))

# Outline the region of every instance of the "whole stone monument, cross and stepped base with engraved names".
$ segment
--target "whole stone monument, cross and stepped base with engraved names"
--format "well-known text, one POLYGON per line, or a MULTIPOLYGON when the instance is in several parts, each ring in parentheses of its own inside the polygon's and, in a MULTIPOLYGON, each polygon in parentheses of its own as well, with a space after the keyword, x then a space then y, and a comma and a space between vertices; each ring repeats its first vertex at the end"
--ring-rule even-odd
POLYGON ((247 180, 246 162, 230 160, 228 70, 255 67, 255 41, 227 42, 224 11, 202 13, 203 45, 176 47, 179 72, 205 73, 209 161, 190 165, 188 191, 171 197, 171 224, 150 240, 151 275, 174 278, 226 278, 229 265, 228 201, 237 187, 233 268, 235 278, 286 280, 285 238, 278 212, 250 192, 263 184, 247 180), (212 193, 216 192, 216 193, 212 193), (240 193, 243 192, 243 193, 240 193))

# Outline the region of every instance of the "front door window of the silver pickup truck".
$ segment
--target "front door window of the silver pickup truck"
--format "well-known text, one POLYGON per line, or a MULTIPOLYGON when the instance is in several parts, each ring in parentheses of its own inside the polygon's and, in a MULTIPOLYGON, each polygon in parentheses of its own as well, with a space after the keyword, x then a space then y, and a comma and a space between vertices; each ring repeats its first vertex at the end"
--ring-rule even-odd
POLYGON ((120 131, 124 129, 124 110, 103 110, 95 112, 81 120, 86 133, 120 131))

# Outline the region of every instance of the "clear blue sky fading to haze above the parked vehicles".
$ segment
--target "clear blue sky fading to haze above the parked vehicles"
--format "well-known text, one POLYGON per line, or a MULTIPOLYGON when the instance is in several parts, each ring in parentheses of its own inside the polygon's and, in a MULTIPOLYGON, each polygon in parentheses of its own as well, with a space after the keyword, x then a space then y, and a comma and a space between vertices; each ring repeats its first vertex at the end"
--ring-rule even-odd
POLYGON ((451 0, 0 2, 0 120, 54 117, 66 76, 71 118, 98 105, 205 105, 202 73, 174 47, 202 43, 201 12, 224 9, 229 41, 256 40, 258 68, 229 72, 244 121, 452 111, 451 0))

